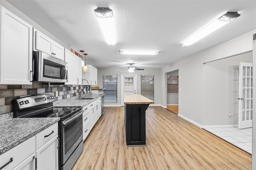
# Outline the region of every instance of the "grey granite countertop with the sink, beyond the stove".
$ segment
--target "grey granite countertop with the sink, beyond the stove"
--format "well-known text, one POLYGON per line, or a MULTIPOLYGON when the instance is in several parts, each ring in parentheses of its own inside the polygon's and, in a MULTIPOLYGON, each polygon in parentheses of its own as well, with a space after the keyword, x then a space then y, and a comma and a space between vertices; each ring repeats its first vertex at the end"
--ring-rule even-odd
MULTIPOLYGON (((62 100, 62 101, 55 101, 53 103, 53 106, 56 106, 56 107, 61 107, 61 106, 86 106, 88 105, 89 103, 97 100, 99 97, 102 97, 104 96, 104 94, 92 94, 90 95, 90 97, 95 97, 94 99, 75 99, 75 100, 62 100)), ((82 97, 86 97, 85 95, 83 95, 82 97)), ((87 96, 88 97, 88 96, 87 96)))

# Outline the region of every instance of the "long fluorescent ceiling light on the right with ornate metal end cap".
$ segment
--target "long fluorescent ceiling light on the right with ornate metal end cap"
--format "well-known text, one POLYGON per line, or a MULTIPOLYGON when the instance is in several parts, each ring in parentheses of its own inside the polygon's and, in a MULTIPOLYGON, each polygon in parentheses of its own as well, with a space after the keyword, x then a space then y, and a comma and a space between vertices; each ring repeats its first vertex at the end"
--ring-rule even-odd
POLYGON ((233 21, 236 19, 240 14, 237 12, 227 12, 217 20, 213 21, 208 26, 204 27, 202 30, 198 31, 196 34, 188 38, 186 41, 184 41, 180 46, 182 47, 188 47, 192 45, 193 43, 197 42, 198 40, 201 40, 205 36, 211 34, 215 30, 218 30, 220 27, 228 24, 230 21, 233 21))

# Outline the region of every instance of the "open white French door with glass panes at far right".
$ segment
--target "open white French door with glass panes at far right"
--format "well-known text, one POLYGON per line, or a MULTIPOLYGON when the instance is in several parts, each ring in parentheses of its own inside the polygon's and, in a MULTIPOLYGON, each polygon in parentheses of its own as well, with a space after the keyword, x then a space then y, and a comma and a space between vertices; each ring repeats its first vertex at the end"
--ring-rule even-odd
POLYGON ((239 65, 238 128, 252 127, 252 63, 239 65))

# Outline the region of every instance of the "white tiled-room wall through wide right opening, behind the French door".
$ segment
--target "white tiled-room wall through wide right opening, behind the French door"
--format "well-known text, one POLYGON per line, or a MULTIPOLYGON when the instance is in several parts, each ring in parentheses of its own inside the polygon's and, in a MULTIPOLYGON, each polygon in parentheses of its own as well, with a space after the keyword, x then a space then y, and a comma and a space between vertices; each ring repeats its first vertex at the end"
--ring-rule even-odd
POLYGON ((204 125, 238 125, 238 77, 233 79, 233 71, 238 71, 240 62, 252 63, 252 52, 204 65, 204 125), (233 116, 229 117, 228 113, 233 113, 233 116))

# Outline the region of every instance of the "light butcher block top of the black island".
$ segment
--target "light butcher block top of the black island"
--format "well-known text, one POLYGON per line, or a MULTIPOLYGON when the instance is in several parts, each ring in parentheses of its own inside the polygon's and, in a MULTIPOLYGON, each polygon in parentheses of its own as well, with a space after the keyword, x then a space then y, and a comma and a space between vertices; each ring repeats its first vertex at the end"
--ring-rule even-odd
POLYGON ((125 105, 136 105, 136 104, 153 104, 154 101, 137 94, 124 95, 124 104, 125 105))

